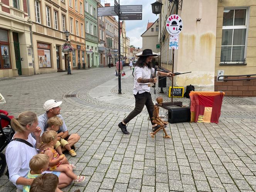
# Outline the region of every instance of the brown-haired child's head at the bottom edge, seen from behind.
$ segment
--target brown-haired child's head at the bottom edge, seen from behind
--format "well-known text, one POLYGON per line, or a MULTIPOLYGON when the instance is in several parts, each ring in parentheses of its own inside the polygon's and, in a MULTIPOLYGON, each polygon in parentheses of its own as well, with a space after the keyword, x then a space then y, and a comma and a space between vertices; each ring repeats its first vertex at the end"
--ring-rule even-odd
POLYGON ((61 192, 58 189, 59 178, 52 173, 45 173, 35 178, 30 186, 30 192, 61 192))

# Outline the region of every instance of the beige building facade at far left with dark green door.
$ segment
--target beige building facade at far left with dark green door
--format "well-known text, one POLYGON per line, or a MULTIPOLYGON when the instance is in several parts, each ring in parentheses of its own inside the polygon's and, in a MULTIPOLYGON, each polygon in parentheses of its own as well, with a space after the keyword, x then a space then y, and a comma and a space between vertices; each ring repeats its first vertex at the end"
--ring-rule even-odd
POLYGON ((0 78, 34 74, 26 0, 0 2, 0 78))

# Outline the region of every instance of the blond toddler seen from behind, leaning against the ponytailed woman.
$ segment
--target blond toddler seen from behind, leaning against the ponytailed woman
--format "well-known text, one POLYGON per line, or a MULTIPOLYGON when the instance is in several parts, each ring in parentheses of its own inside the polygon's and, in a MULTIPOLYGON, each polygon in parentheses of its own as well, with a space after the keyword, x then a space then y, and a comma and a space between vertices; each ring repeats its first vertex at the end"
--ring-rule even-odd
MULTIPOLYGON (((34 179, 46 171, 49 165, 49 157, 45 154, 37 154, 29 162, 29 173, 27 179, 34 179)), ((29 192, 30 185, 23 186, 23 192, 29 192)))

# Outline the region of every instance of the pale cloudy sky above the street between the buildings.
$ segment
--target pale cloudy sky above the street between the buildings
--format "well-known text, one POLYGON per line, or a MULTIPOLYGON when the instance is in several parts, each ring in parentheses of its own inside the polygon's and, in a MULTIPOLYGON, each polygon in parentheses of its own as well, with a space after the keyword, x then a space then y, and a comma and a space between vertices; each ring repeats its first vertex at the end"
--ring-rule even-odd
MULTIPOLYGON (((118 0, 116 0, 118 2, 118 0)), ((142 20, 126 20, 126 36, 130 38, 130 45, 135 47, 142 47, 142 35, 146 29, 148 20, 149 22, 155 22, 158 15, 152 13, 151 3, 156 0, 120 0, 120 5, 142 5, 142 20)), ((104 3, 110 3, 110 6, 114 6, 114 0, 101 0, 101 5, 104 3)), ((118 20, 118 18, 116 17, 118 20)))

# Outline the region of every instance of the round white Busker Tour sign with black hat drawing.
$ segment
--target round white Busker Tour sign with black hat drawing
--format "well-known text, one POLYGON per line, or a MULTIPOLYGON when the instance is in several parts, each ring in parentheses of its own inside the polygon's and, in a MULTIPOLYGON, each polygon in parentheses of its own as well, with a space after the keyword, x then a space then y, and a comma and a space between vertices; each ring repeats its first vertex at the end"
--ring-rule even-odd
POLYGON ((179 15, 173 14, 167 18, 166 30, 170 35, 179 35, 182 30, 183 22, 179 15))

